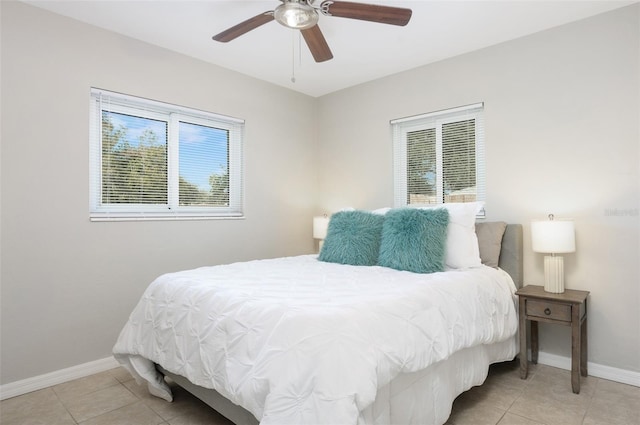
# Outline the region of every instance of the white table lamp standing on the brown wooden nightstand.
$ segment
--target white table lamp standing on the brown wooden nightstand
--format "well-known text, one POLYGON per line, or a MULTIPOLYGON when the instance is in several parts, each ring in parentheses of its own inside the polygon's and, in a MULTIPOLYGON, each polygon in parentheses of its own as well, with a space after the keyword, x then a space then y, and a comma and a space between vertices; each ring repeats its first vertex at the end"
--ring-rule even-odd
POLYGON ((531 245, 533 252, 551 255, 544 257, 544 290, 560 294, 564 292, 564 259, 561 255, 576 250, 575 227, 572 220, 549 220, 531 222, 531 245))

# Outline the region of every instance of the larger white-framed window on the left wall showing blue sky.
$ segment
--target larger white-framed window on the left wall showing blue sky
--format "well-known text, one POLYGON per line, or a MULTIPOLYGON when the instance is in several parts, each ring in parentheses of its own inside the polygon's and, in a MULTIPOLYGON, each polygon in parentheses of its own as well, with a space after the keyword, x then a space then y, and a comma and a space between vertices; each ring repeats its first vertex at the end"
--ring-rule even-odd
POLYGON ((91 219, 241 217, 244 121, 91 90, 91 219))

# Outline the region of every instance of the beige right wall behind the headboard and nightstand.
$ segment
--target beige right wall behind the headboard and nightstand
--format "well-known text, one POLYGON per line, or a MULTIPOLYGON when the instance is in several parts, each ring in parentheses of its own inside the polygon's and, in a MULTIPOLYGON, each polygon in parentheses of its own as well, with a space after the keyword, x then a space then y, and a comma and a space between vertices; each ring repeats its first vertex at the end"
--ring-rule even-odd
MULTIPOLYGON (((591 291, 589 360, 640 371, 639 15, 636 4, 322 97, 320 205, 390 206, 389 120, 485 102, 488 219, 525 225, 525 279, 541 284, 529 222, 573 217, 566 283, 591 291)), ((541 327, 541 350, 568 357, 569 338, 541 327)))

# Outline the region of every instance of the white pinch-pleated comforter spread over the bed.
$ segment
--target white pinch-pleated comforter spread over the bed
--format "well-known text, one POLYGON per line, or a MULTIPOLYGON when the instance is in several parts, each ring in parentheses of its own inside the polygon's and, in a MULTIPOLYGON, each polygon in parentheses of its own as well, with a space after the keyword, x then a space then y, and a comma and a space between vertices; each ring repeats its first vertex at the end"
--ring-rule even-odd
POLYGON ((379 387, 517 329, 509 275, 434 274, 301 256, 170 273, 146 290, 114 355, 170 399, 151 362, 262 424, 356 424, 379 387))

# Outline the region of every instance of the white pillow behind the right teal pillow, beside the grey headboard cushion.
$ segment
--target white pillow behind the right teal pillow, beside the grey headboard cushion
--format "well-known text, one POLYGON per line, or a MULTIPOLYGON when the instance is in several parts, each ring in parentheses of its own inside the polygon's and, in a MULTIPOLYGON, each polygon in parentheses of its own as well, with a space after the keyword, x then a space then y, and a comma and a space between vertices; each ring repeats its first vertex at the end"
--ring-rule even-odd
MULTIPOLYGON (((459 202, 438 204, 433 206, 414 206, 410 208, 432 209, 445 208, 449 211, 447 226, 447 246, 445 264, 449 269, 466 269, 479 267, 482 264, 478 237, 476 236, 476 215, 484 207, 484 202, 459 202)), ((374 214, 386 214, 390 208, 380 208, 374 214)))

